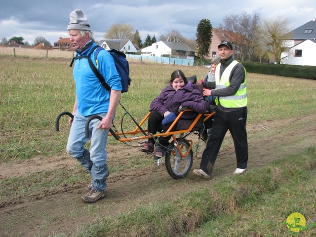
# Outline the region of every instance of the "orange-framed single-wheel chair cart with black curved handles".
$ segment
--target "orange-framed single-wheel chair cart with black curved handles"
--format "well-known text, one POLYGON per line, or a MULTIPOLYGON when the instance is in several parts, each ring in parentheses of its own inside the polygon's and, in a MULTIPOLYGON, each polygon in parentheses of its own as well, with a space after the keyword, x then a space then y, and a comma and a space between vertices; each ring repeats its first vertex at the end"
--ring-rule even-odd
MULTIPOLYGON (((197 81, 197 77, 189 77, 187 78, 193 84, 197 81)), ((202 92, 202 85, 195 85, 197 89, 202 92)), ((121 104, 120 104, 121 105, 121 104)), ((122 106, 122 105, 121 105, 122 106)), ((122 106, 123 107, 123 106, 122 106)), ((125 110, 125 108, 123 108, 125 110)), ((126 110, 125 110, 126 111, 126 110)), ((209 128, 211 124, 211 117, 216 113, 213 111, 207 111, 205 114, 197 114, 196 118, 193 120, 184 120, 181 119, 182 115, 188 111, 192 111, 189 108, 182 108, 180 114, 177 118, 172 122, 168 130, 162 131, 157 134, 149 134, 147 129, 143 129, 142 125, 146 122, 151 112, 149 112, 145 118, 140 123, 137 123, 132 117, 133 121, 136 124, 136 128, 132 131, 124 131, 124 132, 115 132, 112 128, 109 130, 109 136, 113 136, 119 142, 128 142, 134 140, 144 140, 150 137, 154 137, 155 140, 159 136, 169 136, 171 135, 171 142, 166 148, 165 166, 168 174, 174 179, 181 179, 185 177, 189 172, 193 164, 193 144, 192 140, 187 139, 189 135, 192 133, 198 134, 201 136, 201 131, 209 128), (175 129, 173 129, 175 127, 175 129), (141 136, 136 136, 142 133, 141 136), (123 137, 121 137, 123 135, 123 137), (130 137, 126 137, 129 135, 130 137)), ((126 111, 127 112, 127 111, 126 111)), ((127 112, 129 115, 129 113, 127 112)), ((55 120, 55 129, 59 131, 59 119, 63 115, 68 115, 71 118, 74 116, 70 112, 62 112, 60 113, 55 120)), ((85 124, 85 136, 89 136, 89 123, 92 119, 102 120, 102 117, 98 115, 91 116, 85 124)), ((143 142, 146 142, 143 141, 143 142)), ((141 145, 143 142, 140 142, 141 145)), ((161 159, 158 159, 158 164, 161 162, 161 159)))

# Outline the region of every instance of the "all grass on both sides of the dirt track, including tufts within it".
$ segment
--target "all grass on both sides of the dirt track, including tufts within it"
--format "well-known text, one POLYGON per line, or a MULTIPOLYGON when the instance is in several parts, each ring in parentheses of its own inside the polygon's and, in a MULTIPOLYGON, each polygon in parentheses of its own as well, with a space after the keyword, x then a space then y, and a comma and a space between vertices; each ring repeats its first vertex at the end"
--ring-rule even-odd
MULTIPOLYGON (((22 162, 38 155, 49 158, 65 153, 68 118, 61 119, 58 133, 54 126, 60 112, 71 112, 73 108, 75 87, 72 68, 69 67, 70 58, 0 56, 0 164, 22 162)), ((186 76, 197 75, 197 79, 204 78, 209 70, 202 67, 130 62, 132 82, 129 91, 122 95, 121 102, 137 121, 147 114, 150 102, 165 87, 165 82, 176 69, 182 70, 186 76)), ((316 81, 313 80, 249 73, 247 122, 258 124, 316 114, 315 90, 316 81)), ((124 111, 119 107, 115 121, 118 127, 123 114, 124 111)), ((124 129, 130 129, 134 124, 126 118, 123 126, 124 129)), ((288 132, 292 129, 290 126, 284 125, 282 129, 270 130, 268 133, 251 133, 249 142, 271 134, 288 132)), ((315 129, 314 122, 310 126, 315 129)), ((117 143, 113 138, 109 140, 109 144, 114 146, 117 143)), ((282 153, 281 148, 275 149, 280 149, 279 153, 282 153)), ((259 233, 263 233, 263 236, 290 236, 286 226, 280 223, 292 212, 303 212, 304 216, 310 218, 308 223, 316 224, 315 160, 316 151, 311 144, 308 149, 298 150, 291 156, 286 155, 246 175, 215 179, 205 189, 188 190, 164 202, 139 205, 133 211, 114 217, 97 218, 97 222, 84 225, 73 233, 67 234, 65 230, 52 235, 206 237, 255 234, 259 237, 259 233)), ((125 166, 111 166, 111 172, 119 173, 153 164, 146 160, 139 163, 137 157, 133 161, 125 166)), ((8 203, 4 201, 14 195, 27 197, 32 192, 51 190, 63 183, 81 182, 85 174, 80 170, 80 167, 74 166, 71 170, 1 178, 0 200, 8 203), (48 180, 41 180, 43 174, 48 180)), ((157 186, 163 189, 163 185, 158 183, 157 186)), ((3 204, 0 208, 5 206, 3 204)), ((90 207, 91 210, 86 211, 92 213, 102 208, 98 205, 94 207, 95 210, 90 207)), ((65 220, 72 218, 70 214, 65 214, 65 220)), ((9 228, 10 225, 13 223, 4 223, 0 227, 9 228)), ((300 236, 315 236, 315 233, 311 227, 300 236)), ((11 234, 5 236, 24 236, 26 233, 11 234)))

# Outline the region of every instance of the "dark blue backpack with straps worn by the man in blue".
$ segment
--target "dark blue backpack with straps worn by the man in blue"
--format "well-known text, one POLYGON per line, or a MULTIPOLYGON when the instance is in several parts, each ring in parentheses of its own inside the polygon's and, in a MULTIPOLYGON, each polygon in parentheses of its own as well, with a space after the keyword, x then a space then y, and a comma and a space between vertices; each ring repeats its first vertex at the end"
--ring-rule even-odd
MULTIPOLYGON (((90 50, 90 52, 88 53, 87 56, 78 56, 78 54, 77 54, 76 57, 73 58, 73 60, 70 64, 70 67, 73 66, 75 59, 87 58, 89 65, 90 65, 92 71, 94 72, 95 76, 100 80, 102 86, 104 88, 106 88, 108 91, 110 91, 111 90, 110 86, 107 84, 107 82, 105 82, 104 78, 102 77, 102 75, 98 71, 99 65, 98 65, 97 57, 98 57, 98 53, 100 52, 100 50, 105 50, 105 49, 103 47, 101 47, 100 45, 95 45, 90 50), (97 67, 94 66, 92 60, 89 57, 89 55, 94 50, 96 50, 95 51, 95 63, 97 65, 97 67)), ((112 55, 112 57, 114 59, 115 66, 117 68, 118 75, 120 77, 120 82, 122 84, 122 91, 121 92, 122 93, 127 92, 131 79, 129 78, 129 64, 128 64, 128 61, 126 60, 126 55, 118 50, 115 50, 115 49, 110 49, 110 50, 108 50, 108 52, 112 55)))

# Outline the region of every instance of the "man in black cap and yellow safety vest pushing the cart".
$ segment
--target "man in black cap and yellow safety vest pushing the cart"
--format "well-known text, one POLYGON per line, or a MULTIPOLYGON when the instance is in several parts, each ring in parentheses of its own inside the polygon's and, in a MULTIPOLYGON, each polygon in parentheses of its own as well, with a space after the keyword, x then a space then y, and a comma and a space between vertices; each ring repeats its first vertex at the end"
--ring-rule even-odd
POLYGON ((218 45, 221 62, 216 67, 215 83, 212 90, 204 90, 203 96, 217 96, 216 114, 210 137, 202 155, 200 168, 193 170, 197 176, 209 179, 227 130, 235 145, 237 168, 234 174, 247 169, 248 142, 246 70, 233 59, 233 45, 224 41, 218 45))

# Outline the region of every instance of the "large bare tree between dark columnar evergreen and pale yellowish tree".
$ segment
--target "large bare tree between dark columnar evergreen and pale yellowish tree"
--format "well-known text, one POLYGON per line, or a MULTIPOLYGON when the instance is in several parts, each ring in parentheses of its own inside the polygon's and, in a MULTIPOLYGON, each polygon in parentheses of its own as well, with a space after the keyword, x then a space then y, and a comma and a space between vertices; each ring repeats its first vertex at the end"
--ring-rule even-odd
POLYGON ((225 16, 224 25, 220 24, 227 31, 234 32, 234 43, 240 54, 241 61, 252 61, 256 42, 258 41, 260 15, 247 14, 243 11, 241 14, 232 14, 225 16))

